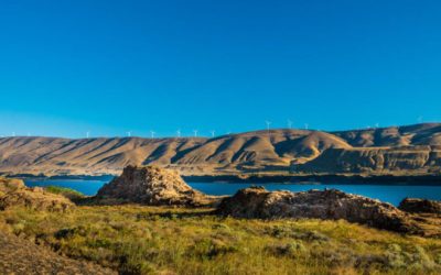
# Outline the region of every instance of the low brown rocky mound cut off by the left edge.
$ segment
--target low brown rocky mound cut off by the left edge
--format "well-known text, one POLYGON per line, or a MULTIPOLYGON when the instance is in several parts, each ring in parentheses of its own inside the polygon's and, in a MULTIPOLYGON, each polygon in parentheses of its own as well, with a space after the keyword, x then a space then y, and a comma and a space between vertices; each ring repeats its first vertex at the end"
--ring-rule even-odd
POLYGON ((26 187, 22 180, 0 178, 0 210, 14 206, 34 210, 65 211, 74 207, 74 204, 43 188, 26 187))

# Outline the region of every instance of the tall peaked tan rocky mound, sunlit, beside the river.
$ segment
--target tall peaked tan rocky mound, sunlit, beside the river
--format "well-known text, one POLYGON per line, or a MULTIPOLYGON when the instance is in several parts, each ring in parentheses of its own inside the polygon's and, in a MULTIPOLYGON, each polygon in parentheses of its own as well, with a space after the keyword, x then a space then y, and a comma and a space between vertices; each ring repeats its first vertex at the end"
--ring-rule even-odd
POLYGON ((155 166, 127 166, 121 176, 98 190, 96 198, 149 206, 202 206, 215 199, 194 190, 178 172, 155 166))

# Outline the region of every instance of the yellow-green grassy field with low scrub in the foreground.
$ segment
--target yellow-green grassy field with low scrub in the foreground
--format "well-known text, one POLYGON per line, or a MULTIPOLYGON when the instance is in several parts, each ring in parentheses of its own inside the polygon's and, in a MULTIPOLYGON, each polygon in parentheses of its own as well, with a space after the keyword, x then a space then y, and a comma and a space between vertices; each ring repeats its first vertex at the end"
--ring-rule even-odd
MULTIPOLYGON (((440 274, 441 240, 345 221, 237 220, 211 209, 12 208, 0 230, 123 274, 440 274)), ((42 248, 43 249, 43 248, 42 248)))

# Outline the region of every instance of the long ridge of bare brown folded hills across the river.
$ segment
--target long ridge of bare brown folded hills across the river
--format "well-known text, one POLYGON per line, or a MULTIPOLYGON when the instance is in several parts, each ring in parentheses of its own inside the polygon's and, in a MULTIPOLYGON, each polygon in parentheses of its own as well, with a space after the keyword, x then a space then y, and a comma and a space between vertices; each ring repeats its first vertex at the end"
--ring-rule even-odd
POLYGON ((3 174, 119 174, 155 164, 184 175, 438 173, 441 123, 341 132, 271 130, 205 138, 3 138, 3 174))

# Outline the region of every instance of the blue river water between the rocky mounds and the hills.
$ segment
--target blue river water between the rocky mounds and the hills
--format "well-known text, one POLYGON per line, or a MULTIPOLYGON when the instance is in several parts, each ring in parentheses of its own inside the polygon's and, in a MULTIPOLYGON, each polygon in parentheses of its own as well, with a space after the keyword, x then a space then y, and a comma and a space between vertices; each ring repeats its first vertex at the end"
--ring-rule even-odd
MULTIPOLYGON (((83 179, 26 179, 28 186, 61 186, 75 189, 85 195, 93 196, 106 184, 103 180, 83 179)), ((226 183, 189 183, 193 188, 208 195, 233 195, 238 189, 252 186, 254 184, 226 184, 226 183)), ((290 190, 305 191, 310 189, 335 188, 345 193, 362 195, 365 197, 379 199, 395 206, 406 197, 426 198, 441 200, 441 186, 426 185, 338 185, 338 184, 258 184, 268 190, 290 190)))

